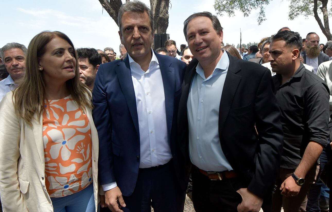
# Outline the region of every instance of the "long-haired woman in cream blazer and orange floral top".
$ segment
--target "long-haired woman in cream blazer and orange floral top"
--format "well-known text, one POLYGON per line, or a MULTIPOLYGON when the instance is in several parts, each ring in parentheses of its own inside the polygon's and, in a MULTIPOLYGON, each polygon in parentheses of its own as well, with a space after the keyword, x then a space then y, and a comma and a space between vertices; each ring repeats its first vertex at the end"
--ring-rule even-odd
POLYGON ((61 32, 28 46, 21 85, 0 103, 0 192, 10 212, 98 209, 98 135, 91 91, 61 32))

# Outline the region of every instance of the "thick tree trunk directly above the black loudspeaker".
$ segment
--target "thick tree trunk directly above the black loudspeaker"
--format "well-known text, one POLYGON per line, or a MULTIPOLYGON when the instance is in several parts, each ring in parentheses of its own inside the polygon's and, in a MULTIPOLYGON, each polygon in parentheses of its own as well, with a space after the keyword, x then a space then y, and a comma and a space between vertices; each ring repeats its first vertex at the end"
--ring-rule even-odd
POLYGON ((154 21, 154 34, 166 33, 168 28, 169 0, 150 0, 154 21))

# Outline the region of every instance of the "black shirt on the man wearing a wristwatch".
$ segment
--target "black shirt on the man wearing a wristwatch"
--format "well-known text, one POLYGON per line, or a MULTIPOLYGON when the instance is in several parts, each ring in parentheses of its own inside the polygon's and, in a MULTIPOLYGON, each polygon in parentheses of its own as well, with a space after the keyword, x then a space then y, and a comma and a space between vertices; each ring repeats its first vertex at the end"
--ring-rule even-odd
POLYGON ((273 76, 275 94, 284 130, 282 168, 296 169, 310 141, 326 146, 329 135, 329 89, 301 63, 294 75, 281 85, 273 76))

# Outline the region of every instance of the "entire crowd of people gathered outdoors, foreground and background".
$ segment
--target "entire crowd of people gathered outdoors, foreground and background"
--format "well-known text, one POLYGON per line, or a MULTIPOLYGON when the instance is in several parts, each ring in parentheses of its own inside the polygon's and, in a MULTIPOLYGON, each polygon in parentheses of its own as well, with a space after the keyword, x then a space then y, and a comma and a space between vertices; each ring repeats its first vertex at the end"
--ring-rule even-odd
POLYGON ((57 31, 1 48, 3 211, 329 211, 332 41, 237 49, 200 12, 153 50, 144 3, 118 20, 118 57, 57 31))

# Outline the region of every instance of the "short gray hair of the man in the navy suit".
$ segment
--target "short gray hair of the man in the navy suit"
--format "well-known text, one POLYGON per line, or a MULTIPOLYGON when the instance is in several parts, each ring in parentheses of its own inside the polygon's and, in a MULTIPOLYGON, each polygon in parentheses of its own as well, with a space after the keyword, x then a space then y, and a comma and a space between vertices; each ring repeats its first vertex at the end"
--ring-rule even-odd
POLYGON ((152 31, 152 34, 154 34, 154 22, 153 22, 152 11, 150 10, 150 8, 148 8, 146 6, 146 4, 144 4, 143 2, 140 2, 140 1, 129 1, 120 7, 119 15, 118 15, 118 26, 119 26, 120 34, 122 34, 121 19, 122 19, 122 16, 124 15, 124 13, 144 13, 144 12, 146 12, 149 15, 151 31, 152 31))

